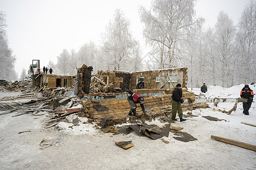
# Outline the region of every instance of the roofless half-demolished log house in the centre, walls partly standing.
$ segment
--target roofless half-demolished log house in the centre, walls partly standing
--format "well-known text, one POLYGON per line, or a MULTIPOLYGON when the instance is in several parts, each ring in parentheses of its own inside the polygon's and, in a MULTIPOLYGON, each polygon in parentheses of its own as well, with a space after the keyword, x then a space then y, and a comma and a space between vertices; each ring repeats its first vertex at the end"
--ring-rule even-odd
MULTIPOLYGON (((81 74, 78 77, 82 78, 83 76, 81 74)), ((78 78, 77 80, 78 84, 86 84, 86 82, 79 83, 80 80, 84 81, 85 79, 78 78)), ((187 68, 139 71, 135 73, 101 70, 92 75, 90 80, 90 86, 87 87, 90 91, 94 91, 94 93, 89 93, 89 97, 92 97, 93 100, 81 100, 84 106, 83 116, 88 117, 90 121, 94 121, 98 125, 103 119, 108 121, 108 125, 121 124, 127 121, 130 105, 127 101, 126 88, 144 96, 144 106, 148 114, 145 117, 146 119, 170 115, 172 109, 171 93, 177 83, 182 84, 183 98, 188 101, 187 104, 182 104, 183 111, 208 107, 208 104, 193 103, 195 95, 187 91, 187 68), (145 88, 135 90, 135 86, 139 81, 144 81, 145 88), (97 90, 95 91, 95 89, 97 90), (119 93, 115 93, 117 92, 116 89, 119 89, 119 93)), ((79 87, 77 94, 84 96, 85 92, 82 92, 81 86, 79 87)), ((137 111, 139 115, 142 115, 139 105, 137 111)), ((132 118, 136 119, 135 117, 132 118)))

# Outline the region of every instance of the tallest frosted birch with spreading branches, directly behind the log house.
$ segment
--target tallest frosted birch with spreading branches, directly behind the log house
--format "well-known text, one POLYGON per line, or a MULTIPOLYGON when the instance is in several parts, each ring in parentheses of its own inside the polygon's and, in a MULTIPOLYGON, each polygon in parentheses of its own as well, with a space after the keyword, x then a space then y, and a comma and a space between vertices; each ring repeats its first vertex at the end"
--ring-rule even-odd
MULTIPOLYGON (((141 7, 139 13, 144 24, 143 36, 146 41, 159 47, 159 61, 163 62, 164 55, 168 56, 168 67, 173 66, 175 59, 181 60, 179 43, 183 40, 186 29, 196 24, 194 0, 152 1, 151 10, 141 7), (160 43, 160 44, 159 44, 160 43), (166 53, 164 52, 166 51, 166 53)), ((162 63, 160 63, 162 67, 162 63)))

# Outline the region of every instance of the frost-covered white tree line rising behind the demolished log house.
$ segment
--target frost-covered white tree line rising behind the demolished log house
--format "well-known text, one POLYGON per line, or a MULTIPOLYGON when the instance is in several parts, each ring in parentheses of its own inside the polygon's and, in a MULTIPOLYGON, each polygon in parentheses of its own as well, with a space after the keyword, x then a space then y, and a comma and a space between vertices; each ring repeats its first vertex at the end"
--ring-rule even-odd
POLYGON ((207 29, 204 18, 196 18, 195 3, 154 0, 150 10, 139 7, 143 36, 152 49, 147 58, 142 58, 129 20, 117 9, 101 35, 100 46, 90 41, 78 52, 64 49, 57 64, 50 61, 48 67, 55 67, 59 74, 76 74, 82 63, 94 71, 188 67, 188 87, 202 83, 230 87, 255 81, 255 0, 244 8, 238 25, 220 11, 217 23, 207 29))

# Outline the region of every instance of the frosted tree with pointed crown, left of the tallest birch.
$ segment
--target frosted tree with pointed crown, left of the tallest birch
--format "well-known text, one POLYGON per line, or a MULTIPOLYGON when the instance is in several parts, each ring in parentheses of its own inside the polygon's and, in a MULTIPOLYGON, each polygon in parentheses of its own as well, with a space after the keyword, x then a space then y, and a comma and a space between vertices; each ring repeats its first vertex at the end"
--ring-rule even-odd
POLYGON ((122 10, 115 10, 114 19, 110 20, 101 38, 101 50, 105 52, 105 57, 108 56, 104 59, 108 65, 113 65, 114 70, 129 69, 131 67, 130 60, 137 53, 134 52, 134 49, 139 48, 134 48, 138 42, 133 39, 130 32, 130 21, 126 19, 122 10))

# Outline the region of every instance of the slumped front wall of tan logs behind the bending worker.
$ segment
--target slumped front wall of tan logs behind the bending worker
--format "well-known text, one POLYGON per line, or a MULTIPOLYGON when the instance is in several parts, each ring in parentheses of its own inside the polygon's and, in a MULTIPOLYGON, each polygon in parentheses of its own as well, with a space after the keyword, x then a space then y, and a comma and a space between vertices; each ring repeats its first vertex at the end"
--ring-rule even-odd
MULTIPOLYGON (((146 96, 144 107, 149 108, 151 111, 147 112, 150 117, 164 116, 164 114, 170 115, 172 110, 172 94, 161 95, 161 96, 146 96)), ((183 99, 188 99, 189 101, 195 100, 195 95, 191 92, 183 92, 183 99)), ((127 98, 118 98, 118 99, 102 99, 102 100, 87 100, 82 101, 84 105, 85 116, 89 118, 90 121, 96 122, 99 124, 100 121, 107 117, 113 122, 113 124, 122 124, 126 122, 127 114, 130 111, 130 105, 127 101, 127 98), (93 105, 102 105, 109 109, 109 111, 97 111, 93 105)), ((191 111, 196 108, 206 108, 208 104, 205 103, 186 103, 181 104, 183 111, 191 111)), ((137 113, 142 115, 140 105, 137 104, 137 113)))

